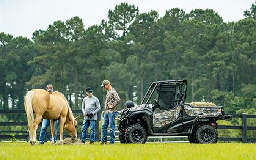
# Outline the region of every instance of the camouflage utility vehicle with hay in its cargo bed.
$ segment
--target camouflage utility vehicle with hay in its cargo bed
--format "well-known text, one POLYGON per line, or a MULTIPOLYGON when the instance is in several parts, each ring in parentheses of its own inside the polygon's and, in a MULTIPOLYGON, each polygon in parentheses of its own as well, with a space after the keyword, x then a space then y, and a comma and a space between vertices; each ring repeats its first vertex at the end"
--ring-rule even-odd
POLYGON ((190 143, 216 143, 217 120, 228 119, 221 106, 185 104, 187 80, 151 84, 141 104, 126 102, 118 118, 121 143, 145 143, 148 136, 188 136, 190 143))

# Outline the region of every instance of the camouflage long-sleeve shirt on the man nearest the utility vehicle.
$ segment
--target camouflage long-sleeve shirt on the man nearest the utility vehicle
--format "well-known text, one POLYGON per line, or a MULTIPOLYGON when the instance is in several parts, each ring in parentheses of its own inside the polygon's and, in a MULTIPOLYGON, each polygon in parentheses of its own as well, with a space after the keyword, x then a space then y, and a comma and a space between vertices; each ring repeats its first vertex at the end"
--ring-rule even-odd
POLYGON ((110 88, 106 94, 105 109, 107 112, 116 112, 116 105, 118 105, 120 97, 118 96, 116 89, 110 88), (110 107, 112 105, 112 107, 110 107))

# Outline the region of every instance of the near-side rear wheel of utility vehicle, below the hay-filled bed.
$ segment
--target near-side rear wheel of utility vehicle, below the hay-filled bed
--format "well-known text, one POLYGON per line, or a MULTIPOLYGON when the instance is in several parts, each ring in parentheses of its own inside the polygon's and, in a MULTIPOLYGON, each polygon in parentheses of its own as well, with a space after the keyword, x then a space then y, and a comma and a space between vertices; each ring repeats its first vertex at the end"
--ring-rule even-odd
POLYGON ((204 124, 198 127, 194 138, 196 143, 217 143, 218 132, 209 124, 204 124))

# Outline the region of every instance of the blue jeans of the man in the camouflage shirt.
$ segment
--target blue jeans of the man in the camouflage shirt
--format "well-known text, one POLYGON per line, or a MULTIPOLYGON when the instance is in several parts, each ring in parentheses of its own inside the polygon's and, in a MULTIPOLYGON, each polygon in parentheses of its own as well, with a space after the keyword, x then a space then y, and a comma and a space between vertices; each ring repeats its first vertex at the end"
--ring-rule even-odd
POLYGON ((102 137, 101 141, 106 142, 107 141, 107 128, 109 125, 109 130, 110 130, 110 140, 109 143, 115 143, 115 132, 116 132, 116 125, 115 125, 115 119, 117 116, 117 112, 115 113, 105 113, 104 115, 104 122, 101 126, 101 132, 102 132, 102 137))

